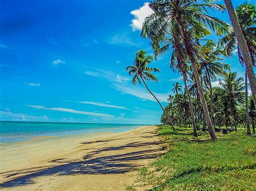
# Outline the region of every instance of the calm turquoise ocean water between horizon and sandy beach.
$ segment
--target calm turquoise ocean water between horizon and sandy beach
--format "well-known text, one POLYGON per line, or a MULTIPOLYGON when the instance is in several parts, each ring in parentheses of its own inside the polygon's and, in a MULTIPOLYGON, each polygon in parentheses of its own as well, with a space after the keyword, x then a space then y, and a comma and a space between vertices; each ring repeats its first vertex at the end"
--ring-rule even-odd
POLYGON ((66 136, 93 132, 124 132, 139 124, 0 122, 0 143, 23 142, 32 137, 66 136))

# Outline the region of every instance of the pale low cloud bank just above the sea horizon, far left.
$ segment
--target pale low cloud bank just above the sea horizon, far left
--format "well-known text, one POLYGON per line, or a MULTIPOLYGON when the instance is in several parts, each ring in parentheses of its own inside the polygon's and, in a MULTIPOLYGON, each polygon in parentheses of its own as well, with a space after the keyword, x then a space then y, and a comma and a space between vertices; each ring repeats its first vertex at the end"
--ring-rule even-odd
MULTIPOLYGON (((6 108, 8 109, 8 108, 6 108)), ((49 118, 44 116, 31 116, 26 114, 15 114, 11 111, 0 111, 0 120, 2 121, 49 121, 49 118)))

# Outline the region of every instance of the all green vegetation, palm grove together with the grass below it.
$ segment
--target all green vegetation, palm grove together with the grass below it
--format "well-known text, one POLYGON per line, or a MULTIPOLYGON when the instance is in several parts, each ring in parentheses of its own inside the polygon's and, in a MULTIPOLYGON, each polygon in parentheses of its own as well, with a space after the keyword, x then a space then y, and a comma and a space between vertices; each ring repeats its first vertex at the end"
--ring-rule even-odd
POLYGON ((149 3, 153 13, 145 18, 141 36, 149 38, 154 59, 170 53, 170 68, 183 81, 166 87, 173 94, 163 107, 145 82, 158 81, 151 72, 159 69, 147 66, 153 57, 138 51, 126 68, 134 75, 132 83, 143 82, 163 110, 157 133, 166 150, 140 168, 136 184, 127 189, 145 184, 152 190, 256 188, 256 6, 242 3, 234 10, 230 0, 224 2, 226 6, 208 0, 149 3), (232 25, 212 16, 226 7, 232 25), (218 41, 211 40, 212 34, 218 41), (225 62, 234 54, 245 75, 225 62))

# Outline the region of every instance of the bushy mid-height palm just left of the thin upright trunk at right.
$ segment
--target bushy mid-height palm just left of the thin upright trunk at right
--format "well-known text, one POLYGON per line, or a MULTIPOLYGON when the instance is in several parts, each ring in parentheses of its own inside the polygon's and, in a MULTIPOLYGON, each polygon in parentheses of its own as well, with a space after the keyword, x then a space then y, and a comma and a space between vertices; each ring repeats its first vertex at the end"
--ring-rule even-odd
POLYGON ((223 81, 219 81, 219 83, 223 90, 222 99, 225 105, 225 115, 230 109, 234 118, 234 128, 237 131, 237 105, 244 103, 244 80, 242 77, 238 77, 237 73, 230 72, 225 74, 223 81))

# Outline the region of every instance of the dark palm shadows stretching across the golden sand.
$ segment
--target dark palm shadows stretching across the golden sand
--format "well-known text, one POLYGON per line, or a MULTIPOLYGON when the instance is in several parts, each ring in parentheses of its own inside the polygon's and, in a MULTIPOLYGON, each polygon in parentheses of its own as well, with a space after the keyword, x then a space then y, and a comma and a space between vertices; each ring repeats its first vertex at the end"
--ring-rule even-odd
POLYGON ((130 171, 132 168, 139 167, 139 165, 133 165, 135 163, 134 161, 155 158, 157 157, 157 151, 159 150, 157 148, 145 148, 143 149, 143 151, 105 155, 104 157, 93 157, 93 155, 111 150, 123 150, 126 147, 148 147, 152 144, 157 143, 134 142, 119 147, 103 147, 84 155, 83 159, 79 161, 72 161, 68 160, 67 158, 60 158, 49 161, 53 163, 49 166, 26 168, 22 171, 5 172, 2 174, 6 174, 5 178, 8 178, 9 180, 1 183, 0 188, 30 185, 34 183, 33 179, 38 178, 39 176, 125 173, 130 171))

